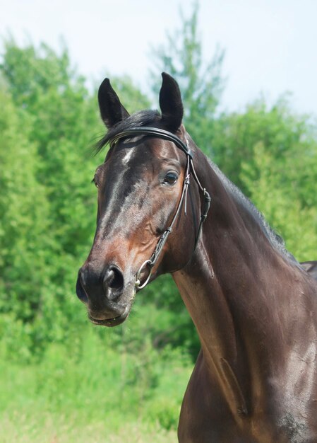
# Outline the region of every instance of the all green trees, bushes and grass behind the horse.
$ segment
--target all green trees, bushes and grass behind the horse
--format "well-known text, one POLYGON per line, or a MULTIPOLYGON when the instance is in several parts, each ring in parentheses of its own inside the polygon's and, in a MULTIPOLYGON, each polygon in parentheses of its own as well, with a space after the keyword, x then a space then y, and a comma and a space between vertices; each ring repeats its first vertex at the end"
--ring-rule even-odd
MULTIPOLYGON (((265 214, 299 260, 317 258, 314 117, 287 96, 220 113, 224 53, 202 62, 198 15, 155 48, 181 86, 198 146, 265 214), (173 42, 173 44, 170 44, 173 42)), ((151 106, 128 77, 112 79, 133 112, 151 106)), ((96 91, 66 48, 6 40, 0 66, 0 442, 175 442, 199 349, 169 277, 146 288, 123 326, 92 326, 75 294, 95 231, 90 184, 104 153, 96 91)))

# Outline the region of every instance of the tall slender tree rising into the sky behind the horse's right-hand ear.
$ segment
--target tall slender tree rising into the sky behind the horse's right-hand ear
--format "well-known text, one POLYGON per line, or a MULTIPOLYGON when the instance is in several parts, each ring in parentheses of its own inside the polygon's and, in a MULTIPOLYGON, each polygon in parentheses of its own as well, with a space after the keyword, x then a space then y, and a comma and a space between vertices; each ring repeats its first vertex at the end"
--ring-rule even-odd
MULTIPOLYGON (((191 137, 206 154, 213 152, 214 122, 225 80, 222 78, 224 51, 216 47, 209 62, 203 62, 203 47, 198 32, 198 3, 193 4, 191 16, 181 13, 181 25, 167 33, 167 43, 153 50, 157 67, 174 76, 181 88, 184 103, 184 124, 191 137)), ((152 89, 157 97, 160 84, 152 89)))

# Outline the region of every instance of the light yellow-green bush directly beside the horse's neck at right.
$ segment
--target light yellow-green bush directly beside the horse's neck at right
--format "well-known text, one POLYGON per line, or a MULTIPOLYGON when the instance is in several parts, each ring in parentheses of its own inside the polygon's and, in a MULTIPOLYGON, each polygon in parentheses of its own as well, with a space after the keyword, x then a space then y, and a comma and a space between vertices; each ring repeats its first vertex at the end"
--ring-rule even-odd
MULTIPOLYGON (((240 175, 251 200, 261 209, 277 233, 283 236, 289 252, 297 260, 316 260, 317 207, 305 207, 301 202, 301 188, 308 188, 307 183, 301 183, 301 188, 292 188, 292 177, 304 161, 292 165, 285 161, 286 169, 280 167, 281 163, 277 167, 273 154, 265 151, 261 142, 253 146, 253 153, 256 170, 250 163, 243 161, 240 175)), ((306 157, 306 160, 305 169, 310 163, 310 159, 306 157)), ((299 171, 298 175, 302 173, 299 171)), ((311 183, 316 182, 309 180, 309 183, 312 189, 311 183)))

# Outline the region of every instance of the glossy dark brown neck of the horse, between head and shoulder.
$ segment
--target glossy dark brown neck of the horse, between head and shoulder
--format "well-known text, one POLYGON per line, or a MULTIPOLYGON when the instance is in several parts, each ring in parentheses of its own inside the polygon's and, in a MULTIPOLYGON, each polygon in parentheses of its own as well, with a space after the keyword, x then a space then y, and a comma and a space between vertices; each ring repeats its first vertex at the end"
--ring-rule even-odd
POLYGON ((212 197, 210 214, 191 263, 173 277, 198 330, 205 365, 237 412, 251 391, 263 389, 275 370, 271 362, 281 361, 274 352, 287 321, 275 315, 284 301, 279 271, 288 297, 297 265, 275 248, 256 210, 202 153, 196 165, 212 197))

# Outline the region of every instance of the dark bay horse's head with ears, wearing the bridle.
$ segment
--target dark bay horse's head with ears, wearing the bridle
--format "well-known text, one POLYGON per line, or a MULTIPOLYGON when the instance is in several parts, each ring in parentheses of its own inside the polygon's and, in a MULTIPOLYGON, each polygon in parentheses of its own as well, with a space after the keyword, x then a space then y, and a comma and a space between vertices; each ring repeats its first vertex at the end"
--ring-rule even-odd
POLYGON ((97 229, 76 292, 93 323, 116 326, 149 280, 191 259, 200 226, 199 182, 189 190, 193 154, 171 76, 162 74, 161 113, 130 116, 109 79, 98 100, 108 128, 100 146, 109 143, 110 149, 93 179, 97 229))

